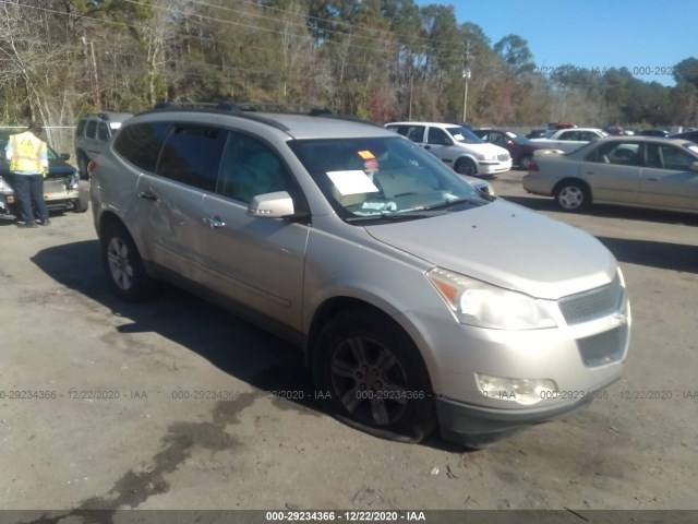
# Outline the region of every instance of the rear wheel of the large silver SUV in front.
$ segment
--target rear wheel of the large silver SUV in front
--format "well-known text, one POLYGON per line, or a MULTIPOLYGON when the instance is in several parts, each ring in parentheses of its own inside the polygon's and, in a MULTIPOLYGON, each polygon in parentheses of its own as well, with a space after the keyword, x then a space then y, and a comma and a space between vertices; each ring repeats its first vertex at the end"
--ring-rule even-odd
POLYGON ((101 260, 113 294, 127 302, 153 297, 158 288, 143 265, 131 235, 121 224, 110 224, 100 235, 101 260))

